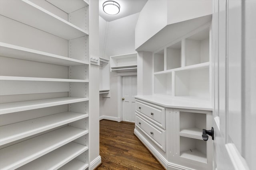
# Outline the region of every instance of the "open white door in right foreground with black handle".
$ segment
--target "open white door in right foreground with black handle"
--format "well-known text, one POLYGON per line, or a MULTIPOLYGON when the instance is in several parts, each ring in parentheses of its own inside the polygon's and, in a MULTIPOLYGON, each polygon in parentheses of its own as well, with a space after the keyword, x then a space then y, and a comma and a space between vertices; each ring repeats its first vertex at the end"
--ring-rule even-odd
POLYGON ((214 168, 256 167, 256 0, 214 0, 214 168))

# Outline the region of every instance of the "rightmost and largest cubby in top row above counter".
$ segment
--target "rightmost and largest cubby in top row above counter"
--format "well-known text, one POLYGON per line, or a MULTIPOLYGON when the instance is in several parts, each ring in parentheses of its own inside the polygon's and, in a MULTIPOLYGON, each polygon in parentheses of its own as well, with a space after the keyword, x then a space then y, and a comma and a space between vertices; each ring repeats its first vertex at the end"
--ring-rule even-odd
POLYGON ((185 39, 186 66, 209 62, 209 28, 185 39))

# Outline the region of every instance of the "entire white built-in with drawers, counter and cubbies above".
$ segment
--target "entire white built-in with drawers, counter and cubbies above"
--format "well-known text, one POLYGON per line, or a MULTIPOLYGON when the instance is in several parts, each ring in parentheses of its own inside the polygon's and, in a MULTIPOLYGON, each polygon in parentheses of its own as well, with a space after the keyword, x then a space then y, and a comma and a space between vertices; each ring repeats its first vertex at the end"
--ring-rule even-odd
POLYGON ((202 139, 202 130, 212 127, 210 42, 206 23, 152 53, 139 53, 144 74, 138 80, 147 89, 147 72, 152 74, 152 93, 135 96, 134 134, 166 169, 212 170, 213 140, 202 139))

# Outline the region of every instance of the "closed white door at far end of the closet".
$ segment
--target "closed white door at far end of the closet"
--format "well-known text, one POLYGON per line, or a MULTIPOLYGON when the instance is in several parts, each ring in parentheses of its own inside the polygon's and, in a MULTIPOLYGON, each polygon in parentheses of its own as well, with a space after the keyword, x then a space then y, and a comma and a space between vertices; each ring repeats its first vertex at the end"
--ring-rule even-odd
POLYGON ((122 121, 135 122, 137 76, 122 77, 122 121))

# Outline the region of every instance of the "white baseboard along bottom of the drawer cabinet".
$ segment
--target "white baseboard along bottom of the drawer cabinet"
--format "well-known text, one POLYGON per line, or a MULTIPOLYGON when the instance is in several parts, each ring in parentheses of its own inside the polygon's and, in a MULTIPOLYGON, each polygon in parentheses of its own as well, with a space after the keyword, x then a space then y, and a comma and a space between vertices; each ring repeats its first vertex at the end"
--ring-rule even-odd
POLYGON ((134 134, 140 141, 150 150, 150 152, 156 157, 156 159, 166 168, 167 170, 191 170, 187 167, 180 166, 178 164, 173 164, 171 162, 168 162, 166 158, 164 158, 158 150, 156 150, 148 141, 147 139, 140 134, 140 132, 137 129, 134 129, 134 134))

